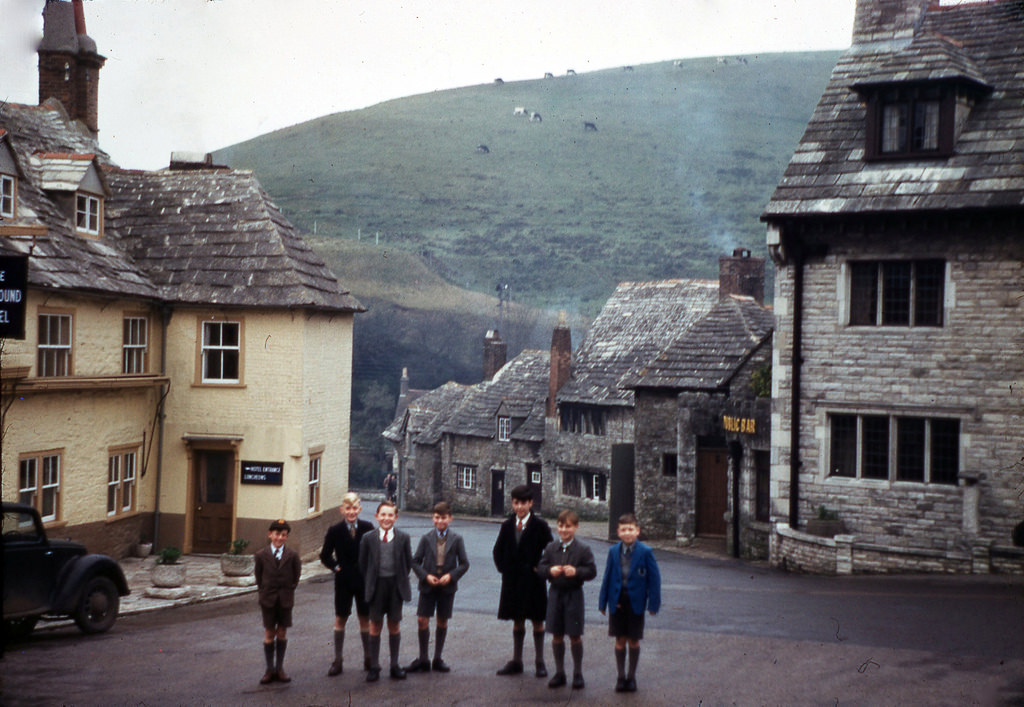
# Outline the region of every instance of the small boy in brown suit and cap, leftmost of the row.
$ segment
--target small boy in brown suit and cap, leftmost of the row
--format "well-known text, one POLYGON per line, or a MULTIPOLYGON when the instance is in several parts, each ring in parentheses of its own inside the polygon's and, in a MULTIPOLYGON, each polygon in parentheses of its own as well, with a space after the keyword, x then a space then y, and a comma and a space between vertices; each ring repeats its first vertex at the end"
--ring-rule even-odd
POLYGON ((285 650, 288 648, 288 627, 292 625, 295 587, 302 577, 299 553, 285 547, 292 527, 287 521, 274 521, 267 531, 270 544, 256 553, 256 588, 260 613, 263 616, 263 655, 266 672, 260 684, 273 680, 291 682, 285 672, 285 650))

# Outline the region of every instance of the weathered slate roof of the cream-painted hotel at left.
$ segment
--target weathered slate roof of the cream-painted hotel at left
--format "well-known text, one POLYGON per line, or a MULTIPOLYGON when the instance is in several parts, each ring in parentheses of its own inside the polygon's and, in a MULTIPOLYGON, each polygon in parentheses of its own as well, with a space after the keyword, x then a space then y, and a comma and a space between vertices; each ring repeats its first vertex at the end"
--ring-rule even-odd
POLYGON ((37 233, 0 239, 0 252, 31 250, 30 285, 177 303, 364 310, 251 172, 120 169, 56 101, 2 103, 0 129, 25 177, 15 220, 3 225, 37 233), (93 156, 109 192, 101 239, 77 235, 74 214, 43 189, 74 188, 93 156))

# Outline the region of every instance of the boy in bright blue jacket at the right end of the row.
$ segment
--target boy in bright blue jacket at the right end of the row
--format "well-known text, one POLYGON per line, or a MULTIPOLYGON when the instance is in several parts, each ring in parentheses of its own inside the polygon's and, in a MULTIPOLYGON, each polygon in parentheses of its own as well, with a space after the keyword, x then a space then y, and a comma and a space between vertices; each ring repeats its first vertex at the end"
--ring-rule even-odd
POLYGON ((639 542, 640 526, 633 513, 618 517, 618 539, 608 548, 604 564, 598 609, 610 607, 608 635, 615 639, 616 693, 635 693, 640 639, 643 638, 644 610, 651 616, 662 608, 662 574, 651 549, 639 542), (626 644, 629 643, 629 672, 626 671, 626 644))

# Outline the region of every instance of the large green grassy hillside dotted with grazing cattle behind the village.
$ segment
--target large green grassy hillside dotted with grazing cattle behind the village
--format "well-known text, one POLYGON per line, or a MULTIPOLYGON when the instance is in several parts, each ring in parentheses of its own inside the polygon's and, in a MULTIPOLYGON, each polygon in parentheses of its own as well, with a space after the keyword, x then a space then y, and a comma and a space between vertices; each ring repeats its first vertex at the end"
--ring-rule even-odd
POLYGON ((216 158, 256 170, 308 232, 593 316, 620 281, 715 277, 720 254, 764 252, 758 216, 837 57, 698 58, 437 91, 216 158))

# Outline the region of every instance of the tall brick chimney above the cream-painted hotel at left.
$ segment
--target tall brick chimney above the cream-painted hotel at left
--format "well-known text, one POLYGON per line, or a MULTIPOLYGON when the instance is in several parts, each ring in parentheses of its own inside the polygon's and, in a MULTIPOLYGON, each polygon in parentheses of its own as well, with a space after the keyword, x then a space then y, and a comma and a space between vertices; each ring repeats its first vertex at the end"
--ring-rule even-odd
POLYGON ((39 43, 39 102, 56 98, 72 120, 99 131, 99 70, 106 58, 85 33, 82 0, 46 0, 39 43))

